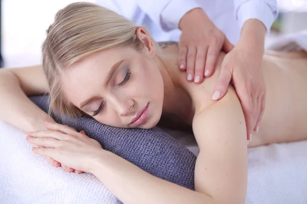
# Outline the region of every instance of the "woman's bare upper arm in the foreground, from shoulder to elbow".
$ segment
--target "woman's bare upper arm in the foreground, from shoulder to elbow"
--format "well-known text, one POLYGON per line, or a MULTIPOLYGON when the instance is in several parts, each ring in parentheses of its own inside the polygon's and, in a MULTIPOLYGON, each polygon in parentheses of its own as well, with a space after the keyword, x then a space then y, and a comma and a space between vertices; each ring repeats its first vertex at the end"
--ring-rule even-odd
POLYGON ((193 132, 200 147, 195 190, 216 203, 245 203, 247 191, 246 123, 232 87, 204 110, 196 110, 193 132))

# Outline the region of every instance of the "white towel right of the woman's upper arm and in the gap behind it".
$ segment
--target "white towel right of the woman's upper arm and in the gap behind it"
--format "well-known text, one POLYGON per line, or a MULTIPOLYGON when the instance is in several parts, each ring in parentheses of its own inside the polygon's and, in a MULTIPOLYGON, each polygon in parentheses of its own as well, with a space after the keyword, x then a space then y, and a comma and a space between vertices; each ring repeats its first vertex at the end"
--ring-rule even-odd
MULTIPOLYGON (((163 130, 198 155, 192 134, 163 130)), ((307 203, 307 140, 249 148, 246 204, 292 203, 307 203)))

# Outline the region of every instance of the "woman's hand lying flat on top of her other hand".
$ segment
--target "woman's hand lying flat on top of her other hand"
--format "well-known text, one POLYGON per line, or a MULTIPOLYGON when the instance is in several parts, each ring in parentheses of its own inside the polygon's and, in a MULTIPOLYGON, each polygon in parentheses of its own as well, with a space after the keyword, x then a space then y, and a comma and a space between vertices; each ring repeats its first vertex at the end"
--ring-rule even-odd
POLYGON ((78 133, 67 125, 46 123, 46 131, 33 132, 27 141, 40 147, 33 147, 36 154, 51 157, 61 164, 79 171, 89 172, 91 158, 102 149, 99 142, 87 137, 84 131, 78 133))

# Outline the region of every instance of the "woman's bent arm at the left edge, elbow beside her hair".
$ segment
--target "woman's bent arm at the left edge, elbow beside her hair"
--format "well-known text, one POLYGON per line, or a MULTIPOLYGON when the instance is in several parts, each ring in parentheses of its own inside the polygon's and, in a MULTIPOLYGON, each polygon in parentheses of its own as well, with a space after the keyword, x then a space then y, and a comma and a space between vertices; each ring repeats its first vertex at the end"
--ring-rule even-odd
POLYGON ((44 121, 53 121, 28 98, 48 93, 41 65, 0 70, 0 120, 24 131, 45 129, 44 121))

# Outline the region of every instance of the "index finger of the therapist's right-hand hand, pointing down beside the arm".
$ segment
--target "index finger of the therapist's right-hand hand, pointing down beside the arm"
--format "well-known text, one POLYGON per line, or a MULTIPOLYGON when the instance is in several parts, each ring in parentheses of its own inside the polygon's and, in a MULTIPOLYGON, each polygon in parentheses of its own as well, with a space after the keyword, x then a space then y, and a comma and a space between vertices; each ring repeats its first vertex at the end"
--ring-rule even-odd
POLYGON ((250 139, 250 135, 253 130, 253 104, 252 97, 246 88, 236 88, 237 95, 240 99, 241 106, 244 112, 247 129, 247 139, 250 139))

